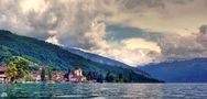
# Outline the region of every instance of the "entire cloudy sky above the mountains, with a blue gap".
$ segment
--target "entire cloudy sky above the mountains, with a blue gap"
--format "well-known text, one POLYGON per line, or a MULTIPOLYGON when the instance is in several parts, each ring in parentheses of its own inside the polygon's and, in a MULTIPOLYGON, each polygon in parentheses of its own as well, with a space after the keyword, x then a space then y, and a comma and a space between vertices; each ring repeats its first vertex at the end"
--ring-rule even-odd
POLYGON ((0 0, 0 29, 130 66, 207 57, 206 0, 0 0))

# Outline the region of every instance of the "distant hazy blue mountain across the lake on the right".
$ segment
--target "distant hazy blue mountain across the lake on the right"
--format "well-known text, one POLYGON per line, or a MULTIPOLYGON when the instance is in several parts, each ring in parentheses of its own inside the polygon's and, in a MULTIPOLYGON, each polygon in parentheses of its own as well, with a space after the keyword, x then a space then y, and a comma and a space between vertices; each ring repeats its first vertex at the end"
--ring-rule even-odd
POLYGON ((164 62, 138 68, 166 82, 207 82, 207 58, 164 62))

